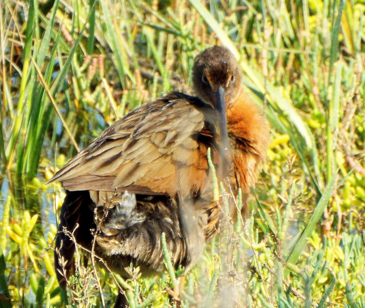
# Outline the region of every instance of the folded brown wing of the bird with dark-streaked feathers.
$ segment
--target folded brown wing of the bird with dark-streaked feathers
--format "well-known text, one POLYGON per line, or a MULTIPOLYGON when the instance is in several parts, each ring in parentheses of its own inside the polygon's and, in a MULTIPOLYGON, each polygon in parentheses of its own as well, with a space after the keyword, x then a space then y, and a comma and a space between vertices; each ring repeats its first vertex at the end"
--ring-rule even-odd
POLYGON ((189 95, 170 93, 132 110, 49 182, 62 181, 69 191, 185 195, 191 188, 201 189, 207 176, 207 145, 196 135, 201 132, 212 137, 213 133, 204 127, 200 110, 201 106, 208 107, 196 106, 194 100, 189 95))

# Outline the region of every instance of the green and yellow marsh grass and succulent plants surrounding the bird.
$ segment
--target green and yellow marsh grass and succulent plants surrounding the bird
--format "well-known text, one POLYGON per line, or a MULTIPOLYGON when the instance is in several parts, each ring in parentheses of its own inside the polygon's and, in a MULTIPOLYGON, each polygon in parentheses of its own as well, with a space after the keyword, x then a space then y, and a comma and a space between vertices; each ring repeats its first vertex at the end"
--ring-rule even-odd
POLYGON ((118 287, 130 307, 365 307, 363 1, 0 5, 0 307, 109 307, 118 287), (179 295, 167 251, 166 274, 124 281, 78 249, 62 292, 64 192, 43 183, 129 110, 191 93, 194 56, 217 43, 272 128, 251 219, 223 222, 179 295))

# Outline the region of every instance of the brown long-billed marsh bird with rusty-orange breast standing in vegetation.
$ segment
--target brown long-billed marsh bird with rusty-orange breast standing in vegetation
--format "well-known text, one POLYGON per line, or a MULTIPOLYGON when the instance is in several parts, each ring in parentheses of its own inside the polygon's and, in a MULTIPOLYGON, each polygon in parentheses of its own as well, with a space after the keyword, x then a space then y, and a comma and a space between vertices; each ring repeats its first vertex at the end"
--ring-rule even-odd
MULTIPOLYGON (((247 215, 269 126, 242 78, 228 48, 205 49, 192 68, 196 96, 173 91, 131 110, 48 181, 60 181, 66 190, 54 253, 63 289, 74 266, 75 241, 89 251, 94 243, 95 254, 122 277, 130 264, 148 276, 165 269, 165 233, 174 267, 188 272, 223 217, 214 200, 208 149, 218 181, 235 196, 241 188, 247 215)), ((237 217, 234 204, 229 211, 237 217)))

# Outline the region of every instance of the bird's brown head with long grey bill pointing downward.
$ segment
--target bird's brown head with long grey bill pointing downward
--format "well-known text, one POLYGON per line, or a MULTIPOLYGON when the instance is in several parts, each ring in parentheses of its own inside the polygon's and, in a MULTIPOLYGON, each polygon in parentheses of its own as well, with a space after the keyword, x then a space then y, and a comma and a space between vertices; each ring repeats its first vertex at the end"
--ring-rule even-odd
POLYGON ((241 71, 232 52, 222 46, 205 49, 195 58, 192 81, 199 98, 214 107, 222 145, 227 149, 227 106, 237 99, 242 89, 241 71))

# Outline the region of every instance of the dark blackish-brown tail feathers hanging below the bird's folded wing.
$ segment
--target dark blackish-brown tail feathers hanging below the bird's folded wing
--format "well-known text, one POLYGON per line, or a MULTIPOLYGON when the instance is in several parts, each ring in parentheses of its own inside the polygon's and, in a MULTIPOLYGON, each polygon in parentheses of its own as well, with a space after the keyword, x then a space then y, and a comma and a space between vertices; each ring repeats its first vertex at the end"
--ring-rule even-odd
POLYGON ((66 289, 67 280, 74 270, 74 240, 83 247, 91 246, 90 229, 95 228, 93 212, 89 208, 91 202, 88 191, 66 191, 54 251, 54 267, 62 289, 66 289))

